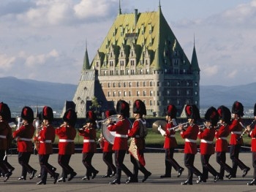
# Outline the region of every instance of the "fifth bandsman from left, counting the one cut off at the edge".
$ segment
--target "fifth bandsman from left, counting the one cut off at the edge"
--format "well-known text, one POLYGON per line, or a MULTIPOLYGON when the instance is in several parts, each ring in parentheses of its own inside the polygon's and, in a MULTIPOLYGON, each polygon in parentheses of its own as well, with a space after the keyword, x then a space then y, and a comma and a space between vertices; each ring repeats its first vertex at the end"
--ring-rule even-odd
POLYGON ((86 112, 86 125, 79 129, 80 136, 83 136, 83 165, 86 166, 86 176, 82 180, 94 179, 99 173, 98 170, 91 165, 91 159, 96 153, 96 115, 93 111, 86 112))

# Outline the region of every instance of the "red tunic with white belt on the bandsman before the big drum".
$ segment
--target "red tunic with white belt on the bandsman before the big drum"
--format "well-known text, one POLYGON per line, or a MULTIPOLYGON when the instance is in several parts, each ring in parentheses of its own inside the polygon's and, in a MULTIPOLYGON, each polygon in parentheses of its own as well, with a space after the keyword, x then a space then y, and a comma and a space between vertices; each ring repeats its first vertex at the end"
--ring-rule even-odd
POLYGON ((109 131, 116 131, 113 150, 127 150, 127 133, 130 127, 128 119, 119 120, 116 124, 108 126, 109 131))

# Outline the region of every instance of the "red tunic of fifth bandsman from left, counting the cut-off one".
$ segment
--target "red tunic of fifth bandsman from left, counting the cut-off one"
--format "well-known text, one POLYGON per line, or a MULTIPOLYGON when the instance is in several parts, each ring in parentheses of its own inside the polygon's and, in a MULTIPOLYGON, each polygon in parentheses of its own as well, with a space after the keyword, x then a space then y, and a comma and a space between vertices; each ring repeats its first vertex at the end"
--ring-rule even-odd
POLYGON ((96 139, 96 130, 95 128, 83 128, 82 131, 79 131, 80 136, 83 136, 83 151, 82 153, 96 153, 97 145, 95 142, 96 139))

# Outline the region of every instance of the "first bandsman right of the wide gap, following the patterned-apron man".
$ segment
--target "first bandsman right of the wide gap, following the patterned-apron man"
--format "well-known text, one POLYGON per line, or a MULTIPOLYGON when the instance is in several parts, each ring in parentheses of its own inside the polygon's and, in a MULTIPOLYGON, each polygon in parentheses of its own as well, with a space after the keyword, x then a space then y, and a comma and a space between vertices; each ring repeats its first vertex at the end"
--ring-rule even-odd
POLYGON ((171 177, 171 170, 172 167, 176 169, 178 172, 177 177, 180 177, 182 172, 184 171, 184 168, 181 167, 177 161, 173 158, 173 153, 175 150, 175 147, 177 147, 177 141, 175 138, 175 130, 171 129, 174 126, 177 126, 176 124, 176 114, 177 109, 176 106, 173 104, 169 104, 167 106, 166 110, 166 121, 167 125, 165 127, 165 143, 164 143, 164 149, 165 149, 165 174, 161 175, 160 178, 164 177, 171 177))

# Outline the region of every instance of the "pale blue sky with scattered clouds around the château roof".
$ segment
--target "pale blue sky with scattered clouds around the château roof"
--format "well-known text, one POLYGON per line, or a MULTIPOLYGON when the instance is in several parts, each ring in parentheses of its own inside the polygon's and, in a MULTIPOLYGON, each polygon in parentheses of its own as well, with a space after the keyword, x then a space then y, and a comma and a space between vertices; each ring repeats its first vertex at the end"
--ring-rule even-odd
MULTIPOLYGON (((162 0, 165 19, 200 85, 256 82, 256 0, 162 0)), ((159 0, 121 0, 123 13, 157 11, 159 0)), ((5 0, 0 4, 0 77, 78 84, 118 13, 118 0, 5 0)))

